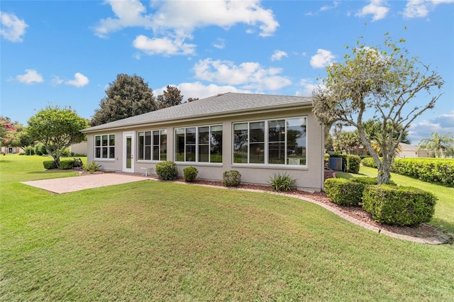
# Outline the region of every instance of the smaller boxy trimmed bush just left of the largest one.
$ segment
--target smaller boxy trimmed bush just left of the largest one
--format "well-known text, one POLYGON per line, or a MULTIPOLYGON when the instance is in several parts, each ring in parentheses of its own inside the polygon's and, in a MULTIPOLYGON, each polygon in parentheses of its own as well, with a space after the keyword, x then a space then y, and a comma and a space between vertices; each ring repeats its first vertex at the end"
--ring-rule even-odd
POLYGON ((362 201, 365 184, 342 178, 329 178, 325 181, 326 195, 341 206, 358 206, 362 201))

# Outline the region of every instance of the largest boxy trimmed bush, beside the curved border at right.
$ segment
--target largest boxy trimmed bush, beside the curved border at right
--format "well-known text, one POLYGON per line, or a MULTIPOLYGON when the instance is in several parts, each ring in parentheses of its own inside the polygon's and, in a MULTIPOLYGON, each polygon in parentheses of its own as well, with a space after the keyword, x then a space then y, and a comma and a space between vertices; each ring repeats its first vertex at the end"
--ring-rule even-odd
POLYGON ((377 185, 367 186, 362 208, 375 221, 390 225, 419 225, 431 220, 437 198, 420 189, 377 185))

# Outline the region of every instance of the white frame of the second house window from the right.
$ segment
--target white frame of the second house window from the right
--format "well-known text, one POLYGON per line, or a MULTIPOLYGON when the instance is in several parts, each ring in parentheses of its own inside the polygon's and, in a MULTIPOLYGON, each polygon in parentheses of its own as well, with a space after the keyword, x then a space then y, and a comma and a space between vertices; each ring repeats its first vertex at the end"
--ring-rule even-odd
POLYGON ((174 141, 175 141, 175 145, 174 145, 174 159, 175 159, 175 162, 181 162, 181 163, 194 163, 194 164, 222 164, 222 140, 223 140, 223 124, 220 123, 220 124, 213 124, 213 125, 197 125, 197 126, 187 126, 187 127, 177 127, 177 128, 174 128, 174 135, 175 135, 175 138, 174 138, 174 141), (194 129, 195 128, 195 144, 194 143, 190 143, 188 145, 187 143, 187 129, 194 129), (199 135, 199 129, 201 128, 208 128, 208 142, 206 143, 201 143, 200 142, 200 135, 199 135), (217 129, 213 129, 213 128, 217 128, 217 129), (220 128, 220 130, 219 130, 220 128), (212 150, 212 147, 214 146, 214 144, 212 144, 212 140, 211 140, 211 133, 214 133, 214 132, 219 132, 221 131, 221 161, 220 162, 213 162, 212 159, 214 158, 213 155, 216 155, 216 153, 211 153, 211 150, 212 150), (178 133, 177 133, 178 132, 178 133), (179 139, 179 135, 184 135, 184 142, 183 142, 183 146, 179 146, 179 143, 178 143, 178 139, 179 139), (201 146, 208 146, 208 154, 207 154, 207 161, 200 161, 200 152, 201 152, 201 149, 200 147, 201 146), (188 150, 188 147, 192 147, 194 148, 194 152, 195 152, 195 159, 194 160, 188 160, 188 157, 187 157, 187 150, 188 150), (178 148, 182 148, 182 150, 184 151, 184 153, 182 155, 179 155, 179 157, 182 157, 184 158, 184 160, 177 160, 177 152, 179 151, 178 148))

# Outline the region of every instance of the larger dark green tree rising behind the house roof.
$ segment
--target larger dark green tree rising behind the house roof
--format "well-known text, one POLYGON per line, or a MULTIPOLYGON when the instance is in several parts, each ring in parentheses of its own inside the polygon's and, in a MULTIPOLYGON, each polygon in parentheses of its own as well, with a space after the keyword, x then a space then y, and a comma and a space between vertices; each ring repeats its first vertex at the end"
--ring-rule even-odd
POLYGON ((90 125, 101 125, 155 111, 153 90, 138 75, 118 74, 109 84, 106 95, 94 111, 90 125))

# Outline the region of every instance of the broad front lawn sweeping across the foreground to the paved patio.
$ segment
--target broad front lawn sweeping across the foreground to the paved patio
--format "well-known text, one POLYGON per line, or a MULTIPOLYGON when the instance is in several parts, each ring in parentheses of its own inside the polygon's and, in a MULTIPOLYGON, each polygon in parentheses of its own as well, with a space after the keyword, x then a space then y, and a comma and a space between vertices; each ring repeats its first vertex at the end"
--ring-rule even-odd
POLYGON ((140 181, 52 194, 0 158, 1 301, 452 301, 453 245, 352 225, 296 198, 140 181))

